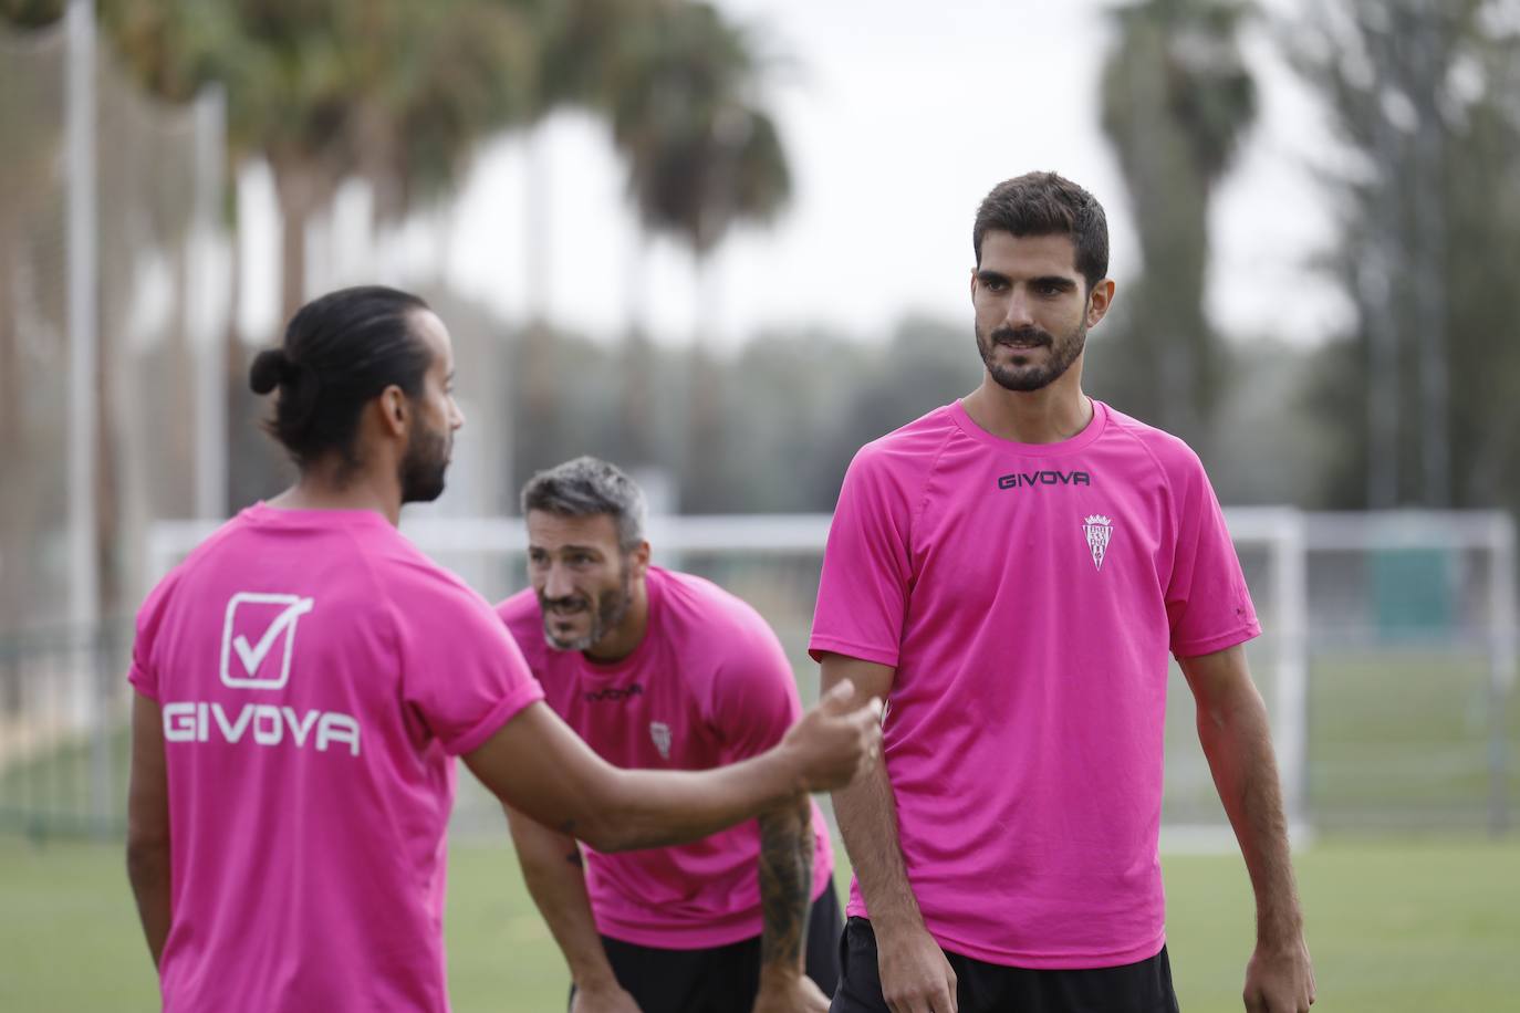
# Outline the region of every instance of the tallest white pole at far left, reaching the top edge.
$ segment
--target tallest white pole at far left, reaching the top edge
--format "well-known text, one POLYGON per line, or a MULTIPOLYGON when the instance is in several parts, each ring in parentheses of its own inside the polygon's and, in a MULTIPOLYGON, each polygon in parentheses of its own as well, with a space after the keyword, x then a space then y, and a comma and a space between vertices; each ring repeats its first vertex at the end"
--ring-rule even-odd
POLYGON ((100 607, 96 545, 96 26, 90 0, 68 0, 65 143, 68 176, 68 624, 90 636, 100 607))

